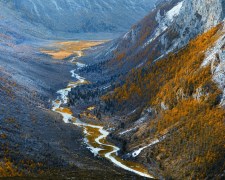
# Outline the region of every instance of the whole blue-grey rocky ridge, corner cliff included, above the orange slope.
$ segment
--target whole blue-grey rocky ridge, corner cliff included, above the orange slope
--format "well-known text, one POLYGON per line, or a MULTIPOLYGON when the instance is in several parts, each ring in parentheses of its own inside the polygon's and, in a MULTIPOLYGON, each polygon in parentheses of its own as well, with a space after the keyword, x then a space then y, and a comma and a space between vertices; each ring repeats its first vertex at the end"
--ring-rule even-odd
POLYGON ((129 71, 143 66, 150 56, 154 61, 176 51, 223 18, 223 1, 162 2, 96 59, 108 59, 106 67, 112 65, 118 69, 119 66, 121 72, 129 71))

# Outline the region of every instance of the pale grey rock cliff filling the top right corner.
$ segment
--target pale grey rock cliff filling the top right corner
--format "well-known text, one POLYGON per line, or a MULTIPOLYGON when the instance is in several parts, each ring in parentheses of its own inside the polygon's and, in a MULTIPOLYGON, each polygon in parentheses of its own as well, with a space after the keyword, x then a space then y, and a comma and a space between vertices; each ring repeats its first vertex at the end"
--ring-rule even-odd
POLYGON ((175 21, 179 32, 179 46, 186 44, 199 33, 216 26, 225 17, 224 0, 184 0, 175 21))

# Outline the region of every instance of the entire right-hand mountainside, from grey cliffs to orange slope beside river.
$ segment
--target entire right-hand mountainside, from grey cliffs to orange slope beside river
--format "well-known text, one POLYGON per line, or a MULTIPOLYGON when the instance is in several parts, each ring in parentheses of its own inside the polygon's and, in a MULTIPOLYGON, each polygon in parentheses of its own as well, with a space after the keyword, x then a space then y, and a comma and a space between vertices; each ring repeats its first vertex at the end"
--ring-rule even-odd
POLYGON ((94 104, 123 158, 168 179, 222 179, 224 14, 223 0, 159 4, 81 71, 109 77, 74 89, 71 105, 94 104))

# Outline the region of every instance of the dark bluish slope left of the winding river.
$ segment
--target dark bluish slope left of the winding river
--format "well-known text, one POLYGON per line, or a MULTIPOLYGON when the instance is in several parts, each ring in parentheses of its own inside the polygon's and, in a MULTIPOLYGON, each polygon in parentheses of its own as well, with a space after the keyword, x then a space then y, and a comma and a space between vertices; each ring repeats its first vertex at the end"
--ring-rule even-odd
POLYGON ((1 176, 138 178, 94 157, 82 129, 51 111, 75 65, 40 53, 40 44, 0 49, 1 176))

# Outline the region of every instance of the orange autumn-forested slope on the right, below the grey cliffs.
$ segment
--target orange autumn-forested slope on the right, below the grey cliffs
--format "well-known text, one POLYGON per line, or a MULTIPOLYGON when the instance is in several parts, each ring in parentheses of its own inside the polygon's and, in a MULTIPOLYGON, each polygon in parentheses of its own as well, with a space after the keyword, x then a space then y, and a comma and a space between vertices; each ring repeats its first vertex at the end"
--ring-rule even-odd
MULTIPOLYGON (((157 113, 127 141, 133 150, 167 133, 167 138, 153 149, 153 157, 160 162, 165 176, 202 179, 224 170, 222 90, 213 80, 211 64, 202 66, 205 53, 223 34, 223 25, 212 28, 177 53, 132 71, 122 87, 103 97, 107 109, 113 106, 120 112, 125 109, 125 113, 144 106, 157 113)), ((146 157, 148 152, 151 150, 142 155, 146 157)))

